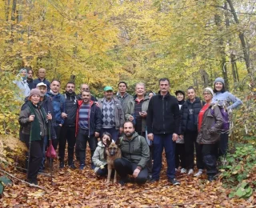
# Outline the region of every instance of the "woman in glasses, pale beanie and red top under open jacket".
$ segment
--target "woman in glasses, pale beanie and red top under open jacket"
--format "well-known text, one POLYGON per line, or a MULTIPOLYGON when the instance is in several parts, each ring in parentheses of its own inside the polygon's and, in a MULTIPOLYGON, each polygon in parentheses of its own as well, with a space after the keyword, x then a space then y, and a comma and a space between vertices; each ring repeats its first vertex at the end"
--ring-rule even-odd
POLYGON ((214 180, 214 176, 218 173, 216 168, 216 152, 223 123, 222 113, 218 105, 211 103, 213 95, 214 91, 210 87, 206 87, 203 90, 203 97, 206 104, 202 107, 198 115, 197 138, 210 182, 214 180))

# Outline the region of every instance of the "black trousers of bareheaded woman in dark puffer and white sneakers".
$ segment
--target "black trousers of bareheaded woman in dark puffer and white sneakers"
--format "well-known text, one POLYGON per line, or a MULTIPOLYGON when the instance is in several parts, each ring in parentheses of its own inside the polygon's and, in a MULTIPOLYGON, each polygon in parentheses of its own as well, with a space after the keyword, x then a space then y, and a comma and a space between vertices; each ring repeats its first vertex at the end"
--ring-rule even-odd
POLYGON ((199 150, 198 142, 196 142, 198 137, 197 131, 187 131, 184 135, 185 142, 185 152, 186 152, 186 169, 194 168, 194 146, 197 158, 198 169, 203 169, 202 162, 202 152, 199 150))

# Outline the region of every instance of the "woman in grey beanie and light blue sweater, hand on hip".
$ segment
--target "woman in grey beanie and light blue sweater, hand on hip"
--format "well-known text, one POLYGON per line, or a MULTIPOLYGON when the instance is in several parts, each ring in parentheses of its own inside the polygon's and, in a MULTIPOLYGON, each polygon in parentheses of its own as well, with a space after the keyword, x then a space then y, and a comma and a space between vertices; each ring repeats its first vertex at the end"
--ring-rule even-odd
MULTIPOLYGON (((216 78, 214 81, 214 97, 212 102, 218 103, 228 112, 242 105, 242 101, 233 94, 225 90, 225 82, 223 78, 216 78), (232 104, 230 103, 232 102, 232 104)), ((229 130, 222 130, 221 139, 218 144, 218 156, 226 156, 228 147, 229 130)))

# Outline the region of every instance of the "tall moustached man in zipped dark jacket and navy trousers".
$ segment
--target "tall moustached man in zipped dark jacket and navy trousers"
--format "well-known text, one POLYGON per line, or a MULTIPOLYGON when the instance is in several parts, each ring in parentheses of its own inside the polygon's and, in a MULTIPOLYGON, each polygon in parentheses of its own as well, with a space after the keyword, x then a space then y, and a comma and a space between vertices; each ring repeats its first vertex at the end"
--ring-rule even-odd
POLYGON ((162 168, 162 150, 165 148, 168 181, 180 183, 175 178, 175 141, 178 139, 179 107, 177 99, 170 95, 168 78, 159 80, 159 94, 150 99, 146 117, 148 138, 154 140, 153 170, 150 182, 158 182, 162 168))

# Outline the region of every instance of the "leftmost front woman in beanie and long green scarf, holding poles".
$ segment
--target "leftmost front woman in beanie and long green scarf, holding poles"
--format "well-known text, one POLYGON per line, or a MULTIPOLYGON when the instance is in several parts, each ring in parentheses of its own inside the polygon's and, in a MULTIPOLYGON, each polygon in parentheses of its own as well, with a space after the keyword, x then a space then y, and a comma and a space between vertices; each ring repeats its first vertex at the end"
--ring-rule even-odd
POLYGON ((30 91, 28 102, 22 106, 18 121, 22 125, 22 139, 29 149, 27 180, 30 183, 38 184, 38 171, 42 163, 43 138, 47 135, 48 119, 51 114, 47 114, 43 108, 38 106, 40 102, 40 90, 30 91))

